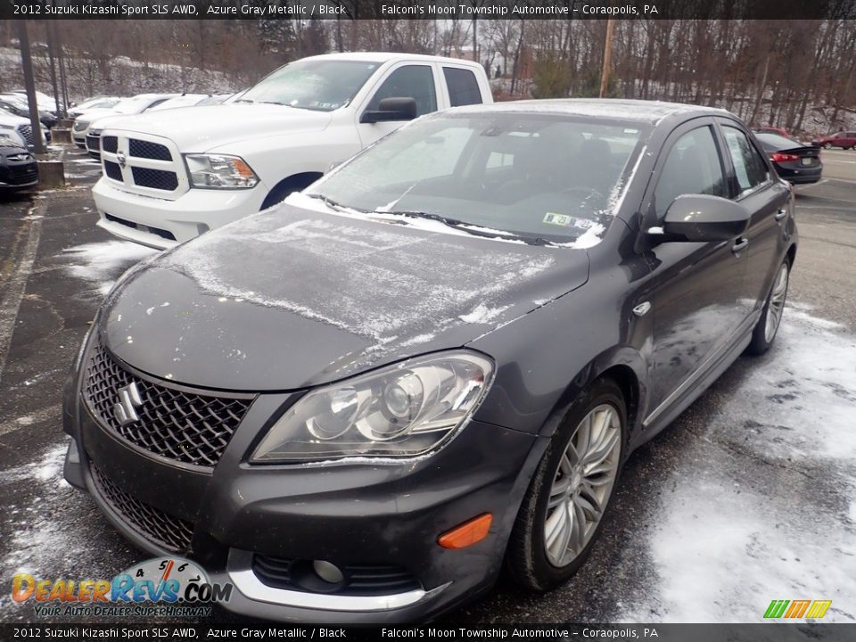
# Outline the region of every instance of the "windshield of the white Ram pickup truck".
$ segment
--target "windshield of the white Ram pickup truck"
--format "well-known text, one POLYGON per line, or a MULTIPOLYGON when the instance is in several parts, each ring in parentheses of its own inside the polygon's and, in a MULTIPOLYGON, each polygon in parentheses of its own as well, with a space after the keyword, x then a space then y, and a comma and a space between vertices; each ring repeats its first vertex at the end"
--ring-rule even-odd
POLYGON ((302 60, 274 71, 235 103, 275 103, 313 111, 333 111, 350 102, 378 62, 302 60))

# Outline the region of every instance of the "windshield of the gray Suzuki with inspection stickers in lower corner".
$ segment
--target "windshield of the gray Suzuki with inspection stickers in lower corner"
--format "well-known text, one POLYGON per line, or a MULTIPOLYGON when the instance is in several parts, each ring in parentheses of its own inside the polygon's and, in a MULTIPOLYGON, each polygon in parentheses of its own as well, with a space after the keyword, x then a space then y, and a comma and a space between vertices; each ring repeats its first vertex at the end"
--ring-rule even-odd
POLYGON ((648 130, 543 113, 435 114, 387 136, 308 195, 333 208, 399 214, 402 223, 434 218, 530 243, 588 233, 597 243, 648 130))

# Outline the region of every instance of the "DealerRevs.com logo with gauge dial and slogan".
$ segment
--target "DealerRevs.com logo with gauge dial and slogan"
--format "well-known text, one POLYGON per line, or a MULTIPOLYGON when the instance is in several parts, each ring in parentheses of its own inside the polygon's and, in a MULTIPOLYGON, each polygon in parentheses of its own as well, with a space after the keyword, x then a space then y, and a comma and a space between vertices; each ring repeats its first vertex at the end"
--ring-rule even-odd
POLYGON ((211 604, 228 602, 233 585, 212 583, 199 564, 182 557, 155 557, 112 580, 12 578, 12 599, 31 602, 37 617, 57 615, 210 615, 211 604))

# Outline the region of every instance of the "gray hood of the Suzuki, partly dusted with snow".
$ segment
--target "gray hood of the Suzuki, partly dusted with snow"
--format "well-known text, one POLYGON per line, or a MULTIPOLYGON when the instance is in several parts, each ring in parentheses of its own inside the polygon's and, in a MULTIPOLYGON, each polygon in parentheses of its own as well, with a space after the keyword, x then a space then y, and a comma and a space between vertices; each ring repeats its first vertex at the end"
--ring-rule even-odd
POLYGON ((101 340, 157 377, 287 391, 464 346, 588 279, 584 250, 284 204, 133 270, 101 340))

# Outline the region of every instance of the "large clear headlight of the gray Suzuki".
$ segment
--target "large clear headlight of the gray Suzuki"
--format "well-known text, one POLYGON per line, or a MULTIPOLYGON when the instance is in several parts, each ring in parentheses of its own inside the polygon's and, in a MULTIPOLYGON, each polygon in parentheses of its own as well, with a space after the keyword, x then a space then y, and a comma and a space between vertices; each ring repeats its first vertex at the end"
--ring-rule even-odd
POLYGON ((456 350, 319 388, 279 418, 252 461, 422 455, 457 434, 492 374, 489 358, 456 350))

